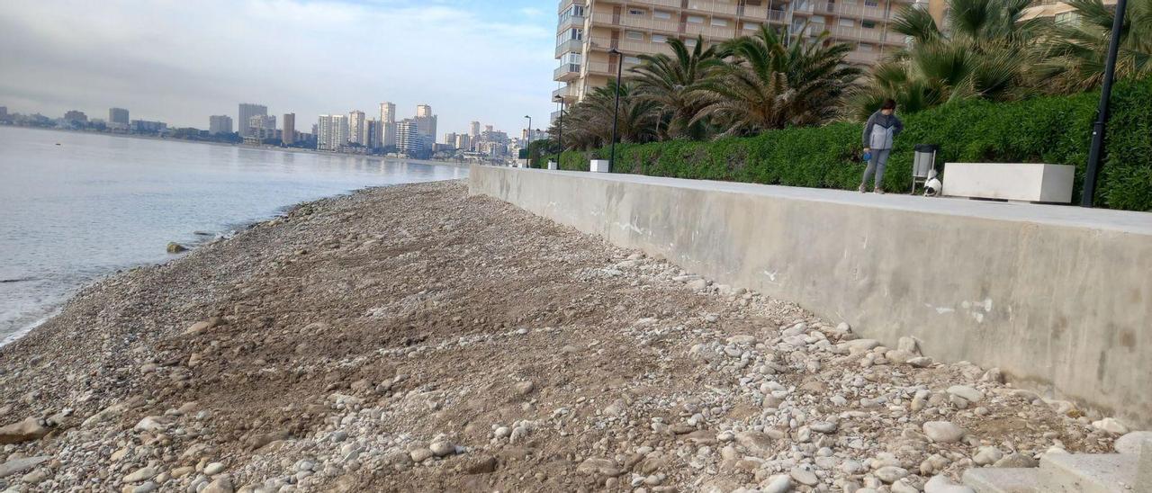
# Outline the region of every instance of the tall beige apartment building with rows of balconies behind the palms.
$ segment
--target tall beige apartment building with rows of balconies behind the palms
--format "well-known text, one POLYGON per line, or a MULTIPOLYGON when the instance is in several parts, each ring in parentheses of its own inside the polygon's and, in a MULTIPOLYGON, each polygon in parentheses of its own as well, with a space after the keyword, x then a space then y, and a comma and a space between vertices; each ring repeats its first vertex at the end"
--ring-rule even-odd
MULTIPOLYGON (((942 0, 938 0, 942 1, 942 0)), ((617 58, 623 69, 639 63, 638 55, 667 53, 668 39, 690 46, 697 36, 708 44, 756 33, 761 25, 790 33, 818 36, 856 47, 848 61, 872 65, 905 43, 889 23, 914 0, 561 0, 556 26, 553 78, 562 86, 553 98, 574 103, 606 85, 616 76, 617 58)), ((554 115, 555 116, 555 115, 554 115)))

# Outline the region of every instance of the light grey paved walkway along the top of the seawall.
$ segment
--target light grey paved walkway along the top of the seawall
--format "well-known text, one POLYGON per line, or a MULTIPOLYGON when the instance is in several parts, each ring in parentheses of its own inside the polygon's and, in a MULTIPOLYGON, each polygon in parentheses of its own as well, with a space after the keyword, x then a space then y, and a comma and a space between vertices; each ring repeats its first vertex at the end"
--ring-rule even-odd
POLYGON ((967 198, 924 197, 900 194, 861 194, 858 191, 847 190, 718 182, 710 180, 668 179, 661 176, 616 173, 551 172, 539 169, 536 172, 582 173, 589 177, 617 182, 651 183, 695 190, 755 194, 799 200, 884 207, 901 211, 923 211, 932 214, 962 215, 1005 221, 1093 228, 1152 236, 1152 213, 1149 212, 1085 208, 1071 205, 1044 205, 1014 202, 971 200, 967 198))

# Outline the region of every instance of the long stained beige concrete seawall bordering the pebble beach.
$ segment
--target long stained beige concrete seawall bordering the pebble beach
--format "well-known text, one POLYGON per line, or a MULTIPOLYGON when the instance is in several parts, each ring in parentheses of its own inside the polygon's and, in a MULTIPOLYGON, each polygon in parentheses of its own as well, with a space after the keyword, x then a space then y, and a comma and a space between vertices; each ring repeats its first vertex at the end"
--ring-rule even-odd
POLYGON ((473 166, 507 200, 1152 427, 1152 214, 473 166))

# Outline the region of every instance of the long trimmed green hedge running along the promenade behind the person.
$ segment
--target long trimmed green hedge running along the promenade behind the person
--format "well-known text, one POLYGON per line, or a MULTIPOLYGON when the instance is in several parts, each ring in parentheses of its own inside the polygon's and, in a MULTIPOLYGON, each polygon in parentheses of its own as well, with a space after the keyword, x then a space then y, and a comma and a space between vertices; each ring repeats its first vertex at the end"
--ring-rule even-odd
MULTIPOLYGON (((912 146, 939 144, 943 162, 1049 162, 1076 166, 1076 203, 1083 182, 1099 92, 1016 103, 964 101, 903 115, 885 174, 893 192, 911 189, 912 146)), ((855 189, 864 172, 859 123, 770 130, 712 142, 672 141, 616 145, 614 172, 793 187, 855 189)), ((1113 91, 1107 154, 1097 204, 1152 211, 1152 79, 1113 91)), ((586 170, 608 149, 567 151, 561 169, 586 170)))

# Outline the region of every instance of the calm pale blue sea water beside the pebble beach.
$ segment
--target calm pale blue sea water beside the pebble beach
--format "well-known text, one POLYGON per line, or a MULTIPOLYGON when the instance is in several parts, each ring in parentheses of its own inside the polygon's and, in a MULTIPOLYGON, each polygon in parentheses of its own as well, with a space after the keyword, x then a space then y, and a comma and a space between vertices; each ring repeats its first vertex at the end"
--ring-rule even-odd
POLYGON ((0 344, 77 288, 302 200, 468 169, 0 127, 0 344), (56 145, 56 144, 60 145, 56 145))

